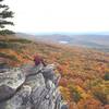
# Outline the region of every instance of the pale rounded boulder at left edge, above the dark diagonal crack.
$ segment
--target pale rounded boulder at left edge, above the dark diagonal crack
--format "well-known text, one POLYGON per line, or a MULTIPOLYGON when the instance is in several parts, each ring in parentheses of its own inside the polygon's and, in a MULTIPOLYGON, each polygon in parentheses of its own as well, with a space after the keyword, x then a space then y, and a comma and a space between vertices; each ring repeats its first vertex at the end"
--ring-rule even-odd
POLYGON ((0 73, 0 101, 10 98, 24 82, 25 76, 17 69, 0 73))

